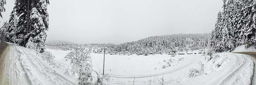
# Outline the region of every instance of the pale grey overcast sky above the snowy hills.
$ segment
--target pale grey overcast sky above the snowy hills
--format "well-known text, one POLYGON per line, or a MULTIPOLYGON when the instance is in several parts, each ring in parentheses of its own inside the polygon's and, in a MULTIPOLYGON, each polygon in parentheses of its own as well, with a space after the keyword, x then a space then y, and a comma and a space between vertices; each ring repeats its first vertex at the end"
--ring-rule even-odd
MULTIPOLYGON (((2 22, 15 0, 6 0, 2 22)), ((173 33, 210 33, 222 0, 50 0, 47 40, 135 41, 173 33)))

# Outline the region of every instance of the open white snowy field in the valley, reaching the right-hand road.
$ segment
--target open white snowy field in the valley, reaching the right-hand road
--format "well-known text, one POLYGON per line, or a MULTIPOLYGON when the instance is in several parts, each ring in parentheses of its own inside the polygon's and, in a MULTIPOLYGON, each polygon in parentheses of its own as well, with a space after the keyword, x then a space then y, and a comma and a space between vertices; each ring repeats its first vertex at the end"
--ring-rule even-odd
MULTIPOLYGON (((64 57, 69 53, 69 50, 63 50, 52 46, 46 46, 45 51, 50 51, 54 56, 54 61, 64 67, 70 69, 69 61, 64 57)), ((204 54, 198 54, 199 51, 178 52, 172 57, 168 54, 155 55, 105 55, 105 74, 111 74, 110 82, 113 84, 131 85, 134 80, 135 85, 160 84, 158 79, 164 78, 164 84, 232 84, 235 81, 227 79, 230 74, 235 74, 239 67, 246 67, 248 71, 241 71, 244 77, 239 80, 240 84, 250 83, 250 78, 253 70, 253 63, 247 56, 239 54, 223 54, 217 53, 220 56, 216 60, 206 62, 204 54), (178 53, 185 53, 178 55, 178 53), (194 54, 197 53, 197 54, 194 54), (236 57, 239 56, 239 57, 236 57), (205 64, 205 73, 198 75, 195 78, 188 78, 189 70, 192 68, 199 69, 198 62, 205 64), (245 63, 247 62, 247 63, 245 63), (244 64, 245 63, 245 64, 244 64), (163 67, 165 66, 165 67, 163 67), (218 67, 219 66, 219 67, 218 67), (228 69, 228 70, 227 70, 228 69), (233 73, 232 73, 233 72, 233 73), (208 74, 207 74, 208 73, 208 74), (217 75, 217 76, 215 76, 217 75), (201 81, 205 80, 205 81, 201 81), (230 80, 230 82, 224 82, 230 80), (150 82, 151 81, 151 82, 150 82)), ((202 52, 203 53, 203 52, 202 52)), ((102 73, 103 69, 103 54, 91 53, 93 69, 102 73)), ((206 56, 209 57, 209 56, 206 56)), ((240 69, 241 70, 241 69, 240 69)), ((237 78, 237 77, 236 77, 237 78)), ((234 80, 234 79, 233 79, 234 80)), ((233 83, 234 84, 234 83, 233 83)))

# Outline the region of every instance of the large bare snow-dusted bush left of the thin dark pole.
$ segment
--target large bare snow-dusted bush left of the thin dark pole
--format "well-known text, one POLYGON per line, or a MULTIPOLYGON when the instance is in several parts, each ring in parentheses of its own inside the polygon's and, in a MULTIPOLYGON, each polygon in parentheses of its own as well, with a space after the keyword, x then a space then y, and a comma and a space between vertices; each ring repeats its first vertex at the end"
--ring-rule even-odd
POLYGON ((65 57, 66 60, 70 60, 72 71, 76 72, 79 79, 82 80, 79 84, 92 84, 92 60, 90 52, 91 49, 75 47, 65 57))

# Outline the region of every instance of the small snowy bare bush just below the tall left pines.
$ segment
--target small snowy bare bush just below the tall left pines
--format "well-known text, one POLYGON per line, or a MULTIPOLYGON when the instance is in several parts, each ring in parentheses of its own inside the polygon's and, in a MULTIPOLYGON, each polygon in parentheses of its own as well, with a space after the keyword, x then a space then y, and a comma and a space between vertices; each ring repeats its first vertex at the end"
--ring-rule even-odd
POLYGON ((48 63, 53 63, 53 58, 55 57, 55 56, 53 56, 52 53, 49 52, 49 51, 45 51, 44 53, 40 53, 39 56, 40 56, 42 59, 46 60, 48 63))

